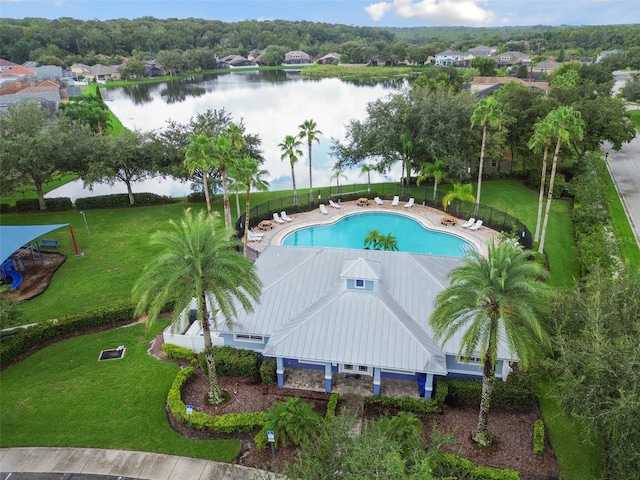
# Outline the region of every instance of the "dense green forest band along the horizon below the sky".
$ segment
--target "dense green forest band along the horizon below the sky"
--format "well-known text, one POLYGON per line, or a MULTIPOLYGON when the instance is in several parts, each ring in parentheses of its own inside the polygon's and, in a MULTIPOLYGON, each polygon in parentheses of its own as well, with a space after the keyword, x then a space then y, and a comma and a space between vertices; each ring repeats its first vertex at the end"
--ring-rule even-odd
POLYGON ((289 50, 303 50, 312 57, 338 52, 348 63, 366 63, 375 56, 422 63, 448 48, 466 50, 479 44, 562 57, 632 51, 632 58, 624 61, 640 68, 640 33, 633 25, 382 28, 284 20, 0 19, 0 58, 64 67, 76 62, 121 64, 131 57, 149 60, 160 52, 246 56, 252 49, 276 57, 289 50))

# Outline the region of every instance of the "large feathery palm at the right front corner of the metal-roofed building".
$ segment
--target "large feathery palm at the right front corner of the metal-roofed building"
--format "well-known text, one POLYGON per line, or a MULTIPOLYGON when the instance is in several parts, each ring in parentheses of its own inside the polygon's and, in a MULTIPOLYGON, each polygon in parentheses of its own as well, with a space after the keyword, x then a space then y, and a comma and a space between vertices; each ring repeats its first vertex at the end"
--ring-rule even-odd
POLYGON ((541 281, 544 269, 512 242, 490 243, 487 257, 470 250, 462 262, 449 273, 451 284, 436 297, 429 322, 441 345, 461 335, 458 355, 480 358, 482 396, 472 438, 488 446, 499 338, 506 340, 523 368, 531 365, 550 344, 541 319, 548 311, 551 289, 541 281))

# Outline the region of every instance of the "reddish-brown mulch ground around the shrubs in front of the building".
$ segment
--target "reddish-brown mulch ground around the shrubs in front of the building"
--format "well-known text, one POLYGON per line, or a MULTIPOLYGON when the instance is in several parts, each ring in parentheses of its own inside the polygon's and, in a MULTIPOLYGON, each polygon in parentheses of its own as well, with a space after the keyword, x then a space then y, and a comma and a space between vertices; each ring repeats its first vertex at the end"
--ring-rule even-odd
MULTIPOLYGON (((166 359, 162 353, 162 334, 153 342, 150 353, 160 359, 166 359)), ((267 387, 258 379, 222 377, 222 388, 230 395, 229 402, 220 407, 212 407, 206 403, 208 379, 203 373, 195 374, 182 391, 182 398, 186 404, 193 405, 195 410, 211 415, 223 413, 241 413, 267 410, 273 403, 287 400, 292 396, 299 396, 303 400, 315 405, 315 411, 321 415, 326 412, 329 394, 318 392, 303 392, 296 389, 267 387)), ((374 419, 385 412, 365 407, 365 418, 374 419)), ((395 412, 388 412, 394 414, 395 412)), ((188 425, 177 424, 168 414, 173 428, 182 435, 190 438, 215 439, 236 438, 242 441, 243 448, 236 463, 262 469, 270 469, 272 465, 269 450, 258 451, 253 445, 256 432, 221 436, 211 432, 197 432, 189 429, 188 425)), ((440 432, 453 432, 456 443, 446 447, 446 450, 471 460, 476 465, 486 465, 496 468, 508 468, 520 472, 522 480, 555 480, 560 472, 551 445, 547 440, 545 452, 537 456, 533 453, 533 423, 541 418, 538 406, 532 407, 504 407, 493 406, 489 415, 489 431, 494 437, 494 445, 489 449, 477 447, 471 440, 470 432, 478 422, 478 405, 444 405, 441 414, 424 415, 422 420, 427 436, 433 428, 440 432)), ((289 446, 276 452, 276 465, 285 461, 294 461, 296 449, 289 446)))

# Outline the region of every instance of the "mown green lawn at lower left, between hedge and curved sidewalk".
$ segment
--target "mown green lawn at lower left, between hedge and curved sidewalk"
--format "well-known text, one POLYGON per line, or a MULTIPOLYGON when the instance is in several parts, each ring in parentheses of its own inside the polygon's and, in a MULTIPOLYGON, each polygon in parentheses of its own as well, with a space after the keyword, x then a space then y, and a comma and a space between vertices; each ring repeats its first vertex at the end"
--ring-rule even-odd
POLYGON ((0 446, 100 447, 229 462, 236 440, 189 440, 167 422, 165 401, 178 372, 147 353, 166 323, 137 324, 65 340, 0 373, 0 446), (126 347, 120 360, 101 350, 126 347))

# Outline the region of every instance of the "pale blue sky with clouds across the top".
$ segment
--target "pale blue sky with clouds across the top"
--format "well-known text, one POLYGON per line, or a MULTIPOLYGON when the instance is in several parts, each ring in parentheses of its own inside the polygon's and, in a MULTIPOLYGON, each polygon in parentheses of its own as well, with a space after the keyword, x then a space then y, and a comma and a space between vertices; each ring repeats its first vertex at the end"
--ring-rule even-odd
POLYGON ((640 24, 638 0, 0 0, 0 17, 307 20, 359 26, 640 24))

